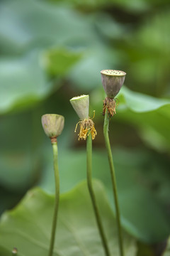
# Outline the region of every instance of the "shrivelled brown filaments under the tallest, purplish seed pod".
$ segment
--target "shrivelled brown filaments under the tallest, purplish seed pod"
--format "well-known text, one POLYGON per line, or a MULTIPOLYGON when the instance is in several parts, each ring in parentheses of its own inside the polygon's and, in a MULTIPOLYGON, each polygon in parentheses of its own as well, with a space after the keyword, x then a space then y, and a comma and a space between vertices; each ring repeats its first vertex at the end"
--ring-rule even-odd
POLYGON ((106 110, 108 110, 108 117, 113 117, 115 112, 115 107, 118 106, 118 99, 112 99, 110 97, 106 97, 103 101, 103 115, 106 114, 106 110))

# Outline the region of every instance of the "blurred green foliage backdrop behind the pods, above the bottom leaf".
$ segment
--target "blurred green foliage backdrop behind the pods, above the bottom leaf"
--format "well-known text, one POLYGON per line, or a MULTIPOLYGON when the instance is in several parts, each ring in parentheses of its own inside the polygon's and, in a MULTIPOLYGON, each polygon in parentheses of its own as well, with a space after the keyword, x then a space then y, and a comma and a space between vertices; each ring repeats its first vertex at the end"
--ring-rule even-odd
MULTIPOLYGON (((69 99, 89 94, 96 110, 94 176, 111 198, 104 153, 100 70, 127 73, 111 121, 123 227, 144 242, 169 235, 169 1, 0 3, 1 213, 35 185, 52 193, 52 152, 40 117, 63 114, 58 139, 61 190, 86 177, 85 143, 69 99), (82 149, 79 151, 79 149, 82 149)), ((114 211, 114 208, 113 208, 114 211)))

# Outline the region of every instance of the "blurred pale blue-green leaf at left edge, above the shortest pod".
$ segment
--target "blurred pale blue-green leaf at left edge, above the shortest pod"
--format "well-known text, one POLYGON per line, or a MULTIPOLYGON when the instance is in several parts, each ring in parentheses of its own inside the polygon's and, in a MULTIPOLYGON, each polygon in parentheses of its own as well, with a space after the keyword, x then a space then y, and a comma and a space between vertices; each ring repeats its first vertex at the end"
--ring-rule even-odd
POLYGON ((1 59, 1 114, 14 107, 33 105, 50 93, 52 85, 47 82, 39 61, 38 53, 30 53, 23 58, 1 59))

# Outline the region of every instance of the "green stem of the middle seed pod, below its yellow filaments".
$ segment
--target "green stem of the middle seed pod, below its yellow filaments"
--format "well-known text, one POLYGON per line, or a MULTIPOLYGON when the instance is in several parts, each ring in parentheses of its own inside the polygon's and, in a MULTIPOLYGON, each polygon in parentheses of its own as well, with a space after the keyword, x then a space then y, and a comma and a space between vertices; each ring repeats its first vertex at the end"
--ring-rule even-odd
POLYGON ((106 240, 106 235, 103 232, 103 226, 102 226, 102 223, 101 223, 101 217, 99 215, 98 206, 97 206, 96 198, 95 198, 95 195, 94 195, 94 189, 93 189, 93 186, 92 186, 91 156, 92 156, 92 139, 91 139, 91 134, 89 134, 89 136, 86 139, 87 184, 88 184, 89 193, 90 193, 90 196, 91 196, 91 202, 92 202, 92 205, 94 207, 94 213, 95 213, 95 216, 96 216, 96 223, 98 225, 98 230, 99 230, 99 233, 101 235, 101 240, 102 240, 102 243, 103 243, 103 249, 105 251, 106 256, 110 256, 110 252, 108 250, 108 243, 107 243, 107 240, 106 240))

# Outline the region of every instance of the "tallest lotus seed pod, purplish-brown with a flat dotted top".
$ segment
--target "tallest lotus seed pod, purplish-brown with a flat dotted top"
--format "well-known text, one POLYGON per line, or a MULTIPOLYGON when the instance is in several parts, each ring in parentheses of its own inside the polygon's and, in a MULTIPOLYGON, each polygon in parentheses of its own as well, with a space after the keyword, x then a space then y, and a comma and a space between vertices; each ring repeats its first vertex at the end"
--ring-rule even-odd
POLYGON ((106 95, 114 98, 125 81, 126 73, 120 70, 101 70, 101 82, 106 95))

